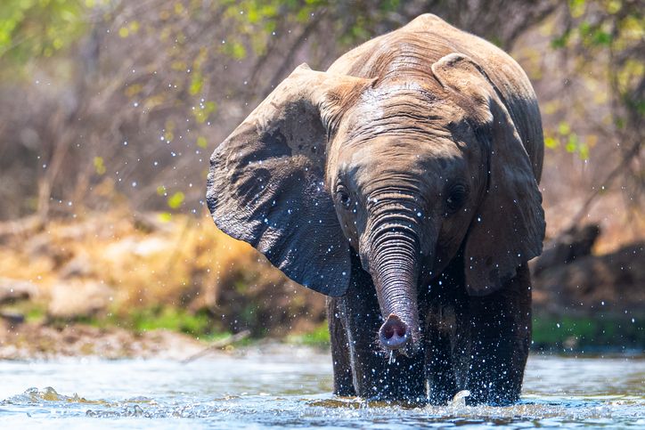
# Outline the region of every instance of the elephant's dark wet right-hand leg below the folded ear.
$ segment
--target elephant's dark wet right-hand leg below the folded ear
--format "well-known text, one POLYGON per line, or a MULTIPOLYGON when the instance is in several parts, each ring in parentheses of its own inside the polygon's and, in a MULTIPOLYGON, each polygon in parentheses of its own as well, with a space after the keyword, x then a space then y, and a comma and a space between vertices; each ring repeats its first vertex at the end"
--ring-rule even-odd
POLYGON ((531 281, 526 264, 499 291, 470 299, 469 403, 519 400, 531 342, 531 281))

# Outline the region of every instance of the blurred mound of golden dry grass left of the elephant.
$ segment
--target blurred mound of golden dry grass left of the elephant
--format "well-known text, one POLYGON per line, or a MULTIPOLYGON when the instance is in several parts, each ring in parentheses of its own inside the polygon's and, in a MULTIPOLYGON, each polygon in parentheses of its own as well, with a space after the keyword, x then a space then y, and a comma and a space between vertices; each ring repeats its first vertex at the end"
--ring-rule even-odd
POLYGON ((249 328, 282 337, 324 318, 322 296, 218 231, 207 215, 167 219, 115 210, 52 221, 0 244, 0 277, 36 284, 43 308, 57 285, 99 282, 110 288, 99 319, 179 308, 206 315, 209 331, 249 328))

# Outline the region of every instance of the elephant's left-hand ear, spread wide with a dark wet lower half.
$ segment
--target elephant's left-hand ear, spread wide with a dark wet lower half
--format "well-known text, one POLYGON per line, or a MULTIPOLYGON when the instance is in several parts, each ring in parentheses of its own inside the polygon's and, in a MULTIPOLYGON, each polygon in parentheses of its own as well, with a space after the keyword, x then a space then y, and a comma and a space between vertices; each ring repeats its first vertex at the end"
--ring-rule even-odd
POLYGON ((213 152, 207 202, 217 227, 290 279, 347 291, 349 245, 325 189, 327 129, 363 79, 295 69, 213 152))

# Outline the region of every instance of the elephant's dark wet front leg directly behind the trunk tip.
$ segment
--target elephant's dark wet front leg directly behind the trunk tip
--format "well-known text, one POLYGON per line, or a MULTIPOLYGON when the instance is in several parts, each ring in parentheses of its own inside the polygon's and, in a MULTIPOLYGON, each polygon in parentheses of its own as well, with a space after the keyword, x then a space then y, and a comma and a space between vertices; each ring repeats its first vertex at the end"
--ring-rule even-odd
POLYGON ((411 358, 380 350, 378 333, 382 320, 371 276, 358 257, 352 256, 352 281, 340 298, 345 308, 345 327, 354 372, 356 394, 370 400, 426 402, 423 352, 411 358))

